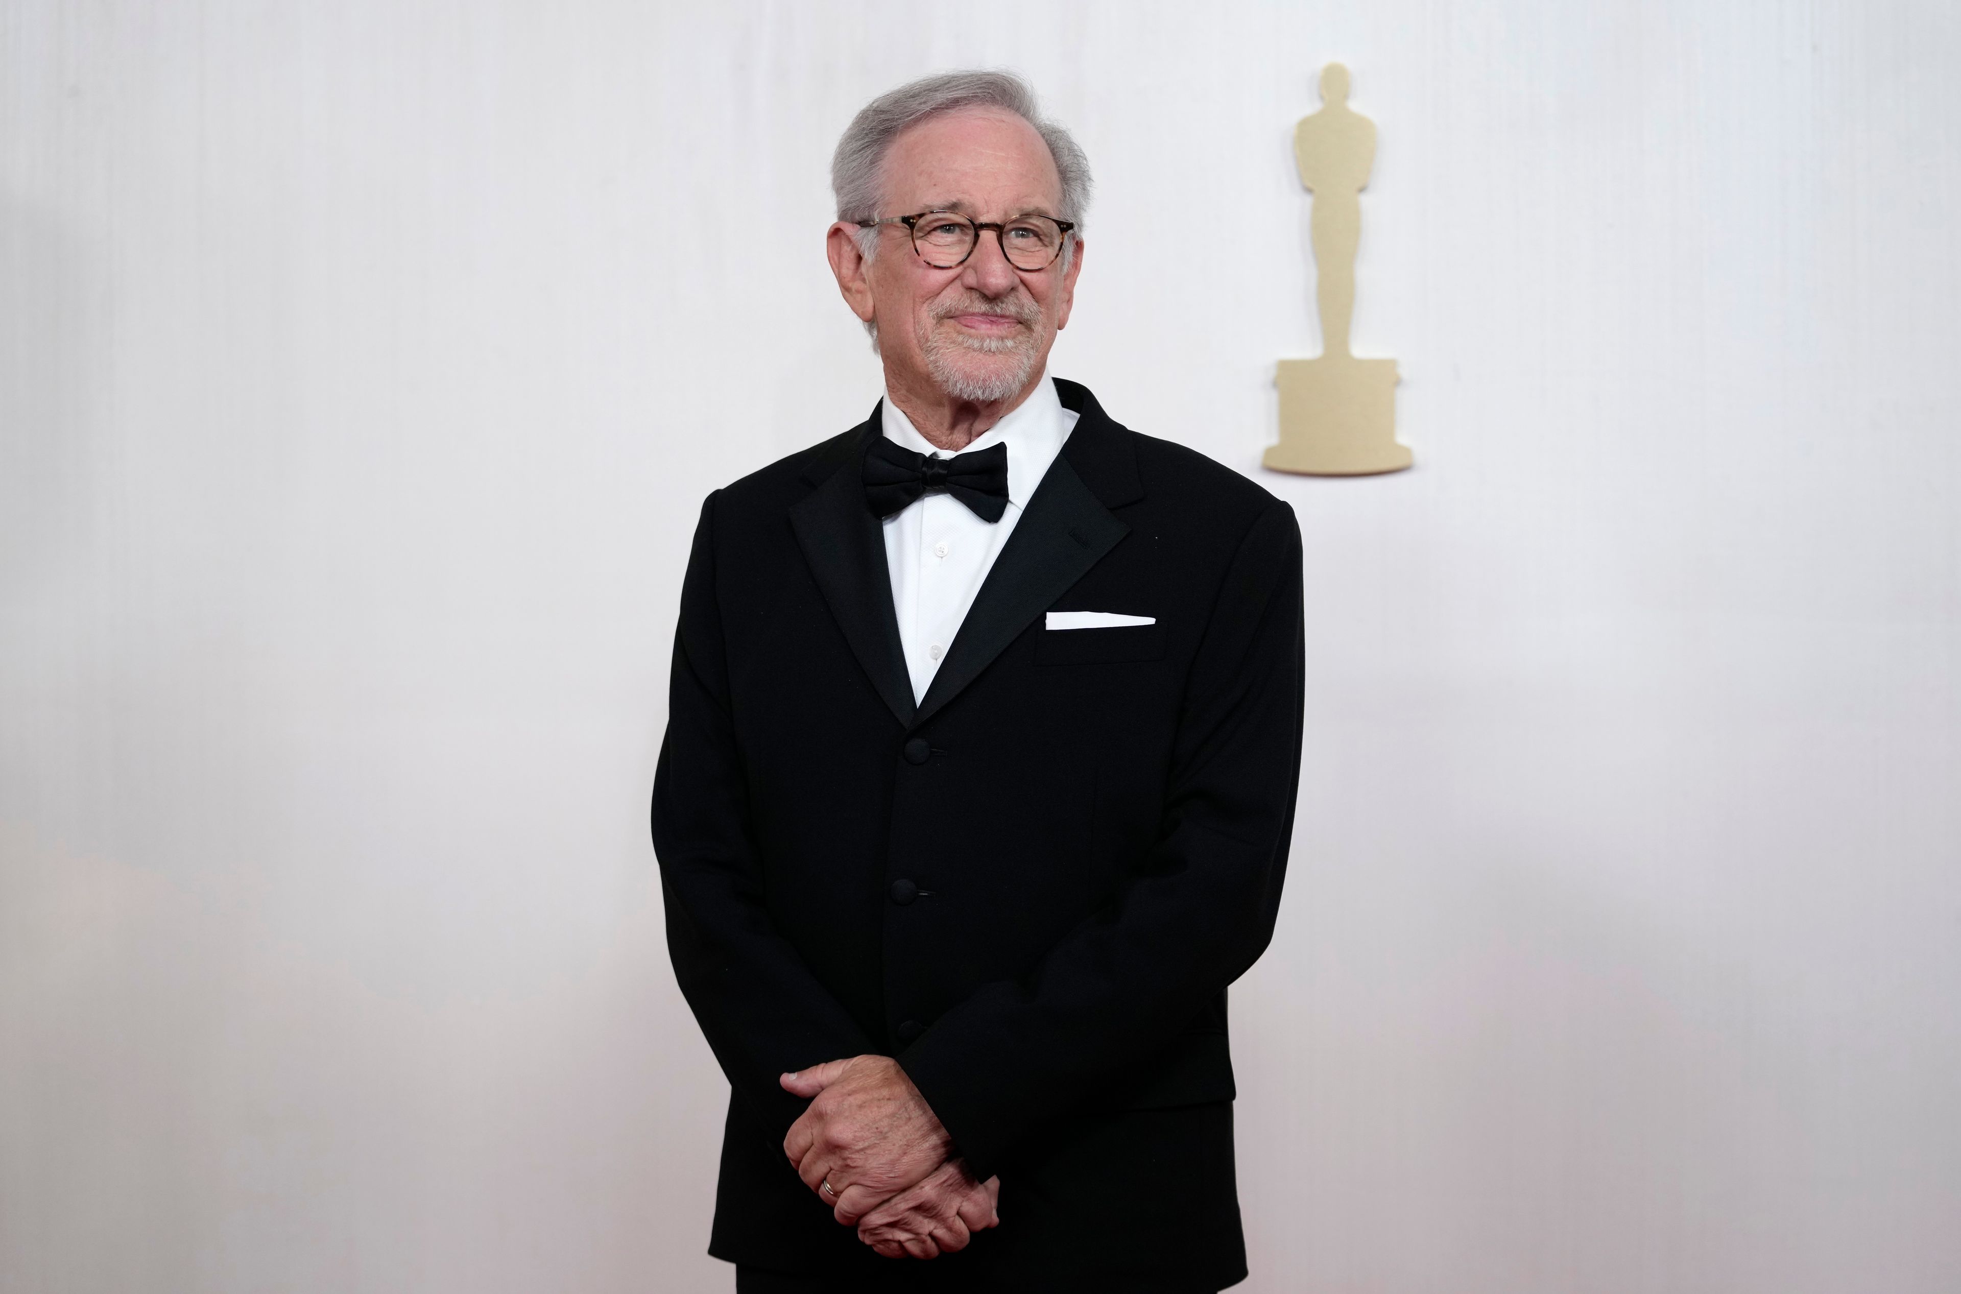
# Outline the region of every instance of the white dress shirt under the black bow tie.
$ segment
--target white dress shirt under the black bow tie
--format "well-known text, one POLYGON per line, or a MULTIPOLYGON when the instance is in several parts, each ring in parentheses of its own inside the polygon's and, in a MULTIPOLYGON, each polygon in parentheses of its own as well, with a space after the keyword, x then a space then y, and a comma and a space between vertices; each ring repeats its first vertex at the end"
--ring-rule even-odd
MULTIPOLYGON (((892 610, 898 612, 914 702, 926 698, 994 557, 1075 425, 1077 414, 1063 408, 1055 382, 1043 374, 1028 400, 961 451, 1008 447, 1008 510, 998 522, 982 522, 951 494, 922 494, 884 520, 884 565, 892 572, 892 610)), ((890 394, 884 398, 884 437, 914 453, 953 457, 920 435, 890 394)))

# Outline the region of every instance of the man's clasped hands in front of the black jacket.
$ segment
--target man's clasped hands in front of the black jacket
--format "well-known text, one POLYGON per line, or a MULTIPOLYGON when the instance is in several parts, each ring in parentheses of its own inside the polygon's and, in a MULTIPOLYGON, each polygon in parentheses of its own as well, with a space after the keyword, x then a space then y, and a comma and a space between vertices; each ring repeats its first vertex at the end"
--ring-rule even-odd
POLYGON ((888 1259, 933 1259, 1000 1223, 1000 1178, 977 1182, 892 1057, 826 1061, 780 1078, 810 1098, 782 1153, 839 1223, 888 1259))

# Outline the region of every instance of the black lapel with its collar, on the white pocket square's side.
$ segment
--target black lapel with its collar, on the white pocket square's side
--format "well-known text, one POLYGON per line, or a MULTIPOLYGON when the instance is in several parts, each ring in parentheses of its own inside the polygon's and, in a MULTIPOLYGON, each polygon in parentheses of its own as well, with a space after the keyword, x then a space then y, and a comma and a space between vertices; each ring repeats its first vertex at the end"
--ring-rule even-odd
MULTIPOLYGON (((1077 427, 1069 433, 1063 453, 1055 455, 1035 496, 1028 500, 1028 512, 1016 522, 1006 547, 994 559, 994 569, 982 580, 967 620, 953 635, 947 659, 933 674, 918 714, 910 718, 914 727, 959 696, 1035 616, 1049 610, 1130 533, 1130 525, 1110 514, 1110 506, 1143 496, 1128 441, 1130 431, 1110 422, 1082 386, 1061 380, 1055 386, 1063 406, 1077 410, 1077 427), (1098 488, 1092 490, 1084 476, 1098 488), (1110 506, 1104 506, 1104 500, 1110 506)), ((863 504, 859 512, 865 512, 863 504)), ((882 561, 879 569, 884 571, 882 561)), ((888 608, 890 602, 886 598, 888 608)))

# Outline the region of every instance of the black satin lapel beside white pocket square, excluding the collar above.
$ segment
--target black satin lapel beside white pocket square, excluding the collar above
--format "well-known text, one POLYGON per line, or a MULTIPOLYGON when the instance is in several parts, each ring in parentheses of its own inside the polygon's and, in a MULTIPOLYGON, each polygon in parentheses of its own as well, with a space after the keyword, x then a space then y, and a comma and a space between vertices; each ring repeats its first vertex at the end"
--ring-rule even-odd
MULTIPOLYGON (((1079 423, 1071 443, 1082 431, 1079 423)), ((1128 533, 1130 525, 1110 516, 1110 510, 1082 484, 1082 476, 1069 465, 1065 445, 1035 488, 1035 496, 1028 500, 1028 512, 1016 522, 1000 557, 994 559, 994 569, 988 571, 967 620, 953 635, 953 647, 926 688, 912 723, 931 718, 959 696, 1035 616, 1049 610, 1051 602, 1128 533)))

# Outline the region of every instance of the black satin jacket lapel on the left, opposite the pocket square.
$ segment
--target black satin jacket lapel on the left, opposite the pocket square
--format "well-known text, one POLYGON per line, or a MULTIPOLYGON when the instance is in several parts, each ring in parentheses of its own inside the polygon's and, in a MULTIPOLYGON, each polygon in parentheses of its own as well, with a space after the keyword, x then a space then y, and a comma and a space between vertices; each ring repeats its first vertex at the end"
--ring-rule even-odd
MULTIPOLYGON (((898 616, 892 612, 892 576, 884 565, 884 533, 865 506, 861 463, 871 437, 879 435, 879 410, 849 441, 849 453, 800 504, 790 508, 790 527, 804 549, 804 561, 818 578, 851 653, 865 667, 873 686, 900 723, 912 723, 912 678, 898 645, 898 616)), ((830 455, 814 465, 830 465, 830 455)), ((1033 502, 1033 500, 1031 500, 1033 502)), ((1026 523, 1026 518, 1024 518, 1026 523)), ((1010 535, 1010 541, 1014 537, 1010 535)))

